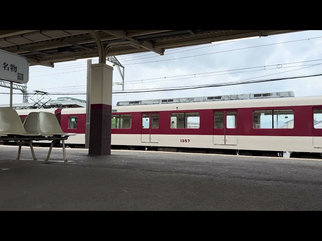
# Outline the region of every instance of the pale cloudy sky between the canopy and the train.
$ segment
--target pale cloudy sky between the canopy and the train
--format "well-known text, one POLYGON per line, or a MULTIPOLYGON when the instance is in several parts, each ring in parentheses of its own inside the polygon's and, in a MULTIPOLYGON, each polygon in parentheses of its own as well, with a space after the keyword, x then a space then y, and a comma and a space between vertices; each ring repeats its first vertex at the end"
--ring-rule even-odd
MULTIPOLYGON (((115 66, 112 105, 116 105, 118 101, 129 100, 280 91, 293 91, 295 96, 322 94, 322 75, 304 77, 322 74, 321 30, 169 49, 164 55, 146 52, 115 57, 124 66, 124 92, 127 93, 122 93, 122 85, 119 83, 123 80, 115 66), (170 90, 170 88, 279 78, 290 79, 170 90), (166 90, 128 93, 156 88, 166 90)), ((98 58, 93 58, 92 63, 98 63, 98 58)), ((106 63, 112 66, 111 62, 106 63)), ((57 97, 86 100, 86 83, 87 59, 55 63, 54 68, 30 66, 27 83, 29 103, 37 100, 37 96, 33 96, 35 90, 48 92, 52 100, 57 97)), ((9 105, 10 89, 0 88, 0 104, 9 105)), ((13 103, 22 103, 21 91, 13 92, 13 103)))

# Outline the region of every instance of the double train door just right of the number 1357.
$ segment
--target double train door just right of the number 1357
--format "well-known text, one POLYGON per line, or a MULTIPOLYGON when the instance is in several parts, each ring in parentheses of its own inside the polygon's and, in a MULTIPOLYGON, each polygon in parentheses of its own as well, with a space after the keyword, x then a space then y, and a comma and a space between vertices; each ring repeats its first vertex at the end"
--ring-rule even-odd
POLYGON ((212 130, 214 145, 237 145, 237 110, 214 110, 212 130))

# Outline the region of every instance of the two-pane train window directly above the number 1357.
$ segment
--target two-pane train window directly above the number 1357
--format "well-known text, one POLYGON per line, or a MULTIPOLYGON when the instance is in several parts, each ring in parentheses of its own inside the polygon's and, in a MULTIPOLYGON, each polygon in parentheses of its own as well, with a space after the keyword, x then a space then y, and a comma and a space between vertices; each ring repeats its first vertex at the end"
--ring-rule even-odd
POLYGON ((170 128, 200 128, 200 115, 195 113, 172 113, 170 128))

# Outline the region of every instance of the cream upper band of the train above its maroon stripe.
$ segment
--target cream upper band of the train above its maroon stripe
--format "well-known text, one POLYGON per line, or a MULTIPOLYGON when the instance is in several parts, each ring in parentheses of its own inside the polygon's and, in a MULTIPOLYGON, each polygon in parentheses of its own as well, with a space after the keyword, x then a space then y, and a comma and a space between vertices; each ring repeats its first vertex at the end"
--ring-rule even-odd
MULTIPOLYGON (((112 112, 136 112, 136 111, 163 111, 163 110, 188 110, 188 109, 224 109, 246 107, 274 107, 274 106, 298 106, 298 105, 322 105, 322 96, 306 97, 280 97, 258 99, 235 99, 223 101, 199 101, 164 104, 140 104, 112 106, 112 112)), ((86 108, 66 108, 61 110, 66 113, 86 113, 86 108)))

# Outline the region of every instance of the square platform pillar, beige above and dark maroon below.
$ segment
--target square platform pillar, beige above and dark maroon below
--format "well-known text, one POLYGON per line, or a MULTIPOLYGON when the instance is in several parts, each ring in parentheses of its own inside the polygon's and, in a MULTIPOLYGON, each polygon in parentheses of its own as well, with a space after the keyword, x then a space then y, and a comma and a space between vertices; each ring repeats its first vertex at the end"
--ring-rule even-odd
POLYGON ((89 155, 111 155, 113 67, 92 64, 89 155))

